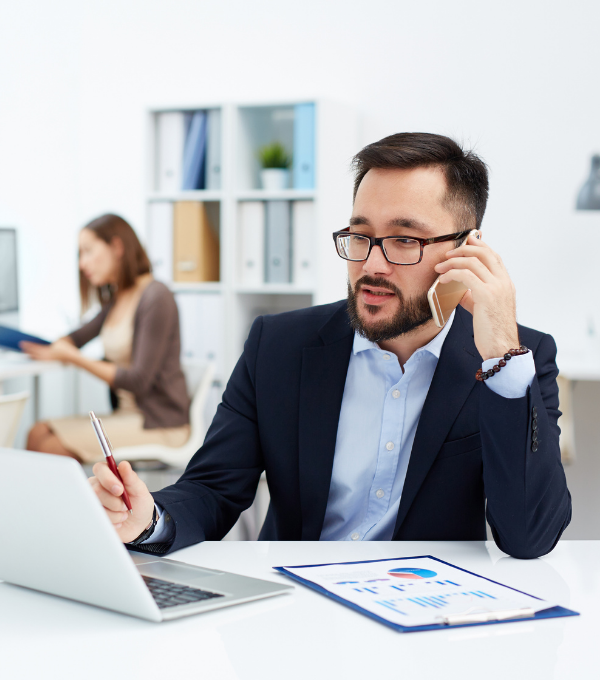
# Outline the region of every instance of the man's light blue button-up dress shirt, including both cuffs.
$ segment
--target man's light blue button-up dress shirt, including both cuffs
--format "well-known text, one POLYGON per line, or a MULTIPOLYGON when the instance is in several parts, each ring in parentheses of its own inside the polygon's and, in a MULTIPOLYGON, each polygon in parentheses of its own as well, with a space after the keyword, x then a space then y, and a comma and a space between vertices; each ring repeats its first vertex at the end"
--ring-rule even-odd
MULTIPOLYGON (((417 425, 437 367, 454 312, 433 340, 418 349, 404 365, 358 334, 354 344, 338 423, 335 457, 322 541, 389 541, 404 487, 417 425)), ((484 370, 496 359, 484 361, 484 370)), ((525 396, 533 382, 535 364, 528 352, 513 357, 484 384, 502 397, 525 396)), ((163 509, 144 543, 172 537, 163 509)))

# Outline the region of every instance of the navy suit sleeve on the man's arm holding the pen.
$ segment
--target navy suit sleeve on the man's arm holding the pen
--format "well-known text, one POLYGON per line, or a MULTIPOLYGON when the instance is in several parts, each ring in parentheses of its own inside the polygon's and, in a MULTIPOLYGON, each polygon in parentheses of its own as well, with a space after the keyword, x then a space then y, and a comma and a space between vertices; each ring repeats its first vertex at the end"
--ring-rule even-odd
POLYGON ((169 552, 220 541, 254 500, 264 470, 254 381, 262 325, 252 325, 204 444, 176 484, 153 494, 175 522, 169 552))

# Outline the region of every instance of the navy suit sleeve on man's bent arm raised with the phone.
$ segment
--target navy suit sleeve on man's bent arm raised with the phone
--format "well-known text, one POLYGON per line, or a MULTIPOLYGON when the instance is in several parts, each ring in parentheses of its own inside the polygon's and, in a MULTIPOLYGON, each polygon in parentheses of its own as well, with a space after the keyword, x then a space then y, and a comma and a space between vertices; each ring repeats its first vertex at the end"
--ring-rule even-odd
POLYGON ((534 360, 536 376, 524 397, 484 389, 480 401, 488 523, 498 547, 522 559, 550 552, 571 520, 551 336, 542 337, 534 360))

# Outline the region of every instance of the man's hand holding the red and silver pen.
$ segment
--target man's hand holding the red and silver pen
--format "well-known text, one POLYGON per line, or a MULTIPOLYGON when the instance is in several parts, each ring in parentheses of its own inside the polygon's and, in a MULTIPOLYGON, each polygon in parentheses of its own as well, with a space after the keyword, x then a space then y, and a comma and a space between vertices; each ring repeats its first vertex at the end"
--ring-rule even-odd
POLYGON ((123 543, 129 543, 135 540, 152 521, 154 499, 148 487, 127 461, 121 461, 118 470, 129 494, 133 514, 129 513, 121 498, 123 484, 110 471, 105 462, 94 465, 92 468, 94 477, 90 477, 89 482, 117 530, 119 538, 123 543))

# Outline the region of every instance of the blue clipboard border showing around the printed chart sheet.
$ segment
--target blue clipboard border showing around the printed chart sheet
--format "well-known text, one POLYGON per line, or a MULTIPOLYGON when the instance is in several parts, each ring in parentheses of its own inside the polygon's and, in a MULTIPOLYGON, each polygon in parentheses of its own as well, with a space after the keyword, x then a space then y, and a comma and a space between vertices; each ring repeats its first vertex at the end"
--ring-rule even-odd
POLYGON ((526 593, 522 590, 517 590, 516 588, 511 588, 510 586, 505 586, 503 583, 499 583, 498 581, 493 581, 490 578, 486 578, 485 576, 480 576, 479 574, 476 574, 475 572, 468 571, 467 569, 462 569, 461 567, 457 567, 455 564, 451 564, 450 562, 445 562, 444 560, 440 560, 437 557, 434 557, 433 555, 417 555, 417 556, 412 556, 412 557, 389 557, 383 560, 359 560, 356 562, 330 562, 330 563, 325 563, 325 564, 300 564, 300 565, 292 565, 289 567, 273 567, 273 569, 279 571, 282 574, 285 574, 285 576, 288 576, 289 578, 294 579, 295 581, 298 581, 298 583, 302 583, 305 586, 308 586, 309 588, 312 588, 313 590, 316 590, 318 593, 321 593, 322 595, 326 595, 327 597, 330 597, 332 600, 335 600, 336 602, 340 602, 343 605, 346 605, 346 607, 350 607, 350 609, 354 609, 357 612, 360 612, 361 614, 364 614, 365 616, 368 616, 371 619, 374 619, 375 621, 379 621, 379 623, 383 623, 386 626, 389 626, 390 628, 393 628, 394 630, 398 631, 399 633, 417 633, 420 631, 424 630, 448 630, 448 629, 454 629, 454 628, 466 628, 466 627, 471 627, 471 626, 489 626, 490 624, 496 624, 496 623, 515 623, 516 621, 534 621, 534 620, 539 620, 539 619, 553 619, 557 618, 560 616, 579 616, 579 612, 575 612, 571 609, 566 609, 565 607, 550 607, 549 609, 544 609, 541 612, 536 612, 533 616, 527 617, 527 618, 517 618, 517 619, 502 619, 500 621, 476 621, 476 622, 469 622, 469 623, 457 623, 457 624, 444 624, 444 623, 432 623, 428 624, 425 626, 402 626, 399 623, 393 623, 392 621, 389 621, 388 619, 383 618, 382 616, 377 616, 377 614, 374 614, 373 612, 368 611, 367 609, 363 609, 357 604, 354 604, 353 602, 349 602, 348 600, 345 600, 343 597, 340 597, 339 595, 335 595, 331 591, 327 590, 326 588, 323 588, 322 586, 317 585, 316 583, 313 583, 312 581, 309 581, 308 579, 304 579, 301 576, 298 576, 297 574, 293 574, 288 571, 288 569, 303 569, 306 567, 330 567, 330 566, 336 566, 339 564, 369 564, 373 562, 396 562, 398 560, 420 560, 420 559, 425 559, 429 558, 432 560, 435 560, 436 562, 440 562, 441 564, 445 564, 449 567, 453 567, 454 569, 458 569, 459 571, 463 571, 466 574, 470 574, 471 576, 476 576, 477 578, 483 579, 484 581, 488 581, 490 583, 494 583, 495 585, 502 586, 503 588, 507 588, 508 590, 512 590, 516 593, 520 593, 522 595, 527 595, 528 597, 533 597, 536 600, 539 600, 539 597, 535 597, 535 595, 530 595, 529 593, 526 593))

